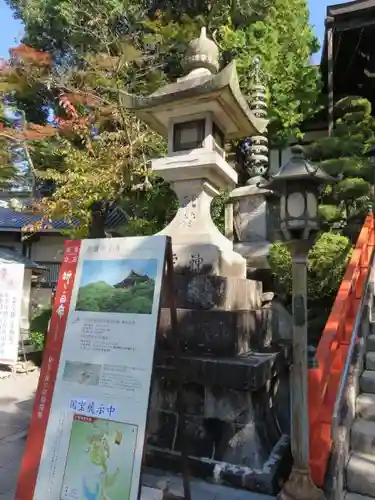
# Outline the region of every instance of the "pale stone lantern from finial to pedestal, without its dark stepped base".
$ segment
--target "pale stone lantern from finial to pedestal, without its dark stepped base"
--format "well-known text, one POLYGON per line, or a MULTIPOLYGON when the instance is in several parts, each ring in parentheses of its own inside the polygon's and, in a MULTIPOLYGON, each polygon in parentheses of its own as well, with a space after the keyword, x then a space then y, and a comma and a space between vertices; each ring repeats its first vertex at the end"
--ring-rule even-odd
POLYGON ((190 42, 185 68, 186 76, 148 97, 123 93, 122 105, 168 140, 168 155, 154 159, 152 170, 179 200, 176 216, 160 233, 172 238, 176 271, 245 277, 246 261, 213 223, 210 205, 237 183, 225 142, 259 135, 267 121, 247 105, 235 62, 218 72, 218 47, 205 28, 190 42))

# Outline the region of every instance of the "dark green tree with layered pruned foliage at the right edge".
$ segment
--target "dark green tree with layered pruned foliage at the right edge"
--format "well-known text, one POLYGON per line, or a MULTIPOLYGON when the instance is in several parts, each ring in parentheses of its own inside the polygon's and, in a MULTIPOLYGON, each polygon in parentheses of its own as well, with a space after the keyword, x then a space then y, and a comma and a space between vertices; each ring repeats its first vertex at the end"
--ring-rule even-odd
POLYGON ((324 190, 320 214, 328 223, 346 220, 355 239, 372 201, 373 167, 365 152, 375 141, 375 120, 366 99, 349 96, 335 106, 335 128, 308 150, 308 156, 339 181, 324 190))

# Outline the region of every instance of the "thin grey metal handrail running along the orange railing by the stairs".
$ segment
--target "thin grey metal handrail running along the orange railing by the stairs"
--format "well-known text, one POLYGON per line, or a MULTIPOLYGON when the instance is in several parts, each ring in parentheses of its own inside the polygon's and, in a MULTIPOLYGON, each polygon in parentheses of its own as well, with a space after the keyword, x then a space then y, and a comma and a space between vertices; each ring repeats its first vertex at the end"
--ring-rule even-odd
POLYGON ((368 288, 369 288, 369 284, 370 284, 370 278, 372 275, 372 267, 374 265, 374 260, 375 260, 375 252, 374 252, 374 247, 372 247, 372 253, 371 253, 369 266, 367 269, 366 280, 365 280, 365 283, 363 285, 363 293, 361 295, 358 311, 356 314, 354 327, 353 327, 353 331, 352 331, 352 336, 351 336, 350 344, 349 344, 349 348, 348 348, 348 354, 346 356, 344 370, 343 370, 342 375, 341 375, 339 390, 337 393, 335 407, 333 410, 332 427, 331 427, 332 441, 335 441, 335 438, 336 438, 336 430, 337 430, 337 427, 339 425, 339 419, 340 419, 341 403, 342 403, 342 400, 343 400, 343 397, 344 397, 344 394, 346 391, 347 382, 348 382, 349 373, 350 373, 350 368, 351 368, 352 362, 353 362, 354 349, 355 349, 355 346, 357 345, 357 339, 359 337, 358 333, 360 331, 360 327, 361 327, 361 323, 362 323, 363 310, 364 310, 364 307, 366 305, 366 301, 368 298, 368 288))

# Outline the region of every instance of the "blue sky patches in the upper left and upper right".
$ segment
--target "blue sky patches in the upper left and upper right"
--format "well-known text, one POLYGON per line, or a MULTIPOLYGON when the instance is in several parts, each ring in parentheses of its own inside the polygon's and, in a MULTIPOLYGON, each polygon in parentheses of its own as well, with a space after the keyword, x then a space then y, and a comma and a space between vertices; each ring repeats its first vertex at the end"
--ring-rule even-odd
MULTIPOLYGON (((322 42, 324 35, 324 18, 326 15, 327 5, 344 3, 347 0, 308 0, 311 12, 311 24, 315 27, 315 32, 319 40, 322 42)), ((22 37, 22 25, 12 17, 12 13, 4 0, 0 0, 0 58, 8 57, 9 47, 14 47, 22 37)), ((313 58, 317 63, 320 60, 320 55, 317 54, 313 58)))

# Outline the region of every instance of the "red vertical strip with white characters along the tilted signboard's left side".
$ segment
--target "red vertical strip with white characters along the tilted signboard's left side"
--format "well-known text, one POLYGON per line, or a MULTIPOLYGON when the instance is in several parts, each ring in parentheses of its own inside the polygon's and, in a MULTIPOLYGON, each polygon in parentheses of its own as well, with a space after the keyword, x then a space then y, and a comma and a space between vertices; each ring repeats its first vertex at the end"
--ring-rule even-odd
POLYGON ((80 247, 80 241, 65 242, 65 252, 60 268, 52 317, 44 348, 43 363, 26 448, 22 457, 15 500, 33 500, 34 497, 80 247))

